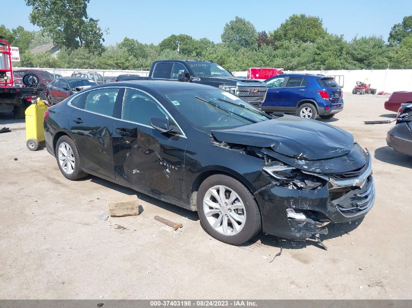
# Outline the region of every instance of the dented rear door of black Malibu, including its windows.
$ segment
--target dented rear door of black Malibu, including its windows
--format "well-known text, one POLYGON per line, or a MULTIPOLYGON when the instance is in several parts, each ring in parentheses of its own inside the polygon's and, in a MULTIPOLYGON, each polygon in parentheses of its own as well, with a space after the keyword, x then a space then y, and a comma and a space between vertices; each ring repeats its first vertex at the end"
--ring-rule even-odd
POLYGON ((123 91, 120 88, 97 89, 84 92, 69 103, 75 108, 69 123, 82 165, 111 178, 115 177, 113 113, 116 102, 121 104, 123 91))

